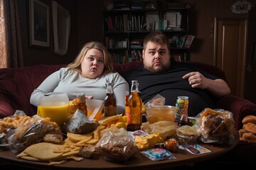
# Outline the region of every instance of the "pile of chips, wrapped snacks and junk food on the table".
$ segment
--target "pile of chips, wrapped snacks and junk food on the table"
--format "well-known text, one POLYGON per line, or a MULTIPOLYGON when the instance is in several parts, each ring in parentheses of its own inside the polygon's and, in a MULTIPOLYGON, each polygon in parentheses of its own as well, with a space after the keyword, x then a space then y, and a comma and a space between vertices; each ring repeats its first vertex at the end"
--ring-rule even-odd
MULTIPOLYGON (((127 115, 102 116, 95 120, 87 117, 83 98, 75 98, 69 105, 70 115, 63 125, 50 118, 27 116, 23 111, 1 119, 1 149, 10 149, 17 159, 54 165, 70 159, 78 162, 96 159, 94 154, 112 162, 127 161, 137 153, 154 161, 176 159, 175 153, 181 146, 197 142, 233 145, 235 142, 235 123, 229 111, 205 108, 193 118, 191 125, 182 126, 174 119, 151 115, 142 123, 141 130, 130 132, 127 115), (156 155, 159 149, 161 157, 156 155)), ((164 103, 156 102, 156 105, 164 103)))

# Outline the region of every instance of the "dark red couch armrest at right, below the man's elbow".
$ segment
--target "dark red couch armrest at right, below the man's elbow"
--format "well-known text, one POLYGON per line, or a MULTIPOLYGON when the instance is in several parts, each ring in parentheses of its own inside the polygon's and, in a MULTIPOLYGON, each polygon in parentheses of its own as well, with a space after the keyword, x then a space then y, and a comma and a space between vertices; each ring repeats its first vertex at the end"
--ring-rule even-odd
POLYGON ((247 115, 256 115, 256 105, 245 98, 239 98, 233 95, 218 98, 215 103, 216 108, 223 108, 233 113, 235 128, 242 128, 242 119, 247 115))

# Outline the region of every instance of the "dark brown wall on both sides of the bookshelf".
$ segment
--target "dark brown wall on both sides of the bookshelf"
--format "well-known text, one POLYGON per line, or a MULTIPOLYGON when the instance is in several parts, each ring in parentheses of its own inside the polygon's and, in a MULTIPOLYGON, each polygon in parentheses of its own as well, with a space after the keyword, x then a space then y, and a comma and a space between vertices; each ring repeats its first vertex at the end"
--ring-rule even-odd
MULTIPOLYGON (((51 6, 51 0, 41 0, 51 6)), ((102 42, 102 11, 104 0, 56 0, 70 11, 71 33, 66 55, 53 53, 53 24, 50 8, 50 47, 38 48, 29 45, 28 2, 17 1, 21 15, 21 33, 23 42, 24 64, 68 64, 72 62, 85 42, 97 40, 102 42)), ((191 61, 214 64, 214 21, 218 18, 247 18, 247 14, 235 14, 231 11, 235 0, 181 0, 191 5, 190 33, 196 35, 191 45, 191 61)), ((255 0, 251 0, 256 4, 255 0)), ((250 35, 248 35, 250 36, 250 35)))

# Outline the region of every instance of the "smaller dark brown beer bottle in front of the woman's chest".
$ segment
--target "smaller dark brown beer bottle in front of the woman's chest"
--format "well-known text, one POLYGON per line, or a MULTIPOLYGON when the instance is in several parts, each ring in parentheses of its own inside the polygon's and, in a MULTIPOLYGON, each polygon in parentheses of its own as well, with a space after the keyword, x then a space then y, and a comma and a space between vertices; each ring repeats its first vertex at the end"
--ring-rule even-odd
POLYGON ((117 101, 114 97, 114 91, 112 88, 112 83, 107 83, 107 96, 104 101, 104 114, 105 117, 110 115, 117 115, 117 101))

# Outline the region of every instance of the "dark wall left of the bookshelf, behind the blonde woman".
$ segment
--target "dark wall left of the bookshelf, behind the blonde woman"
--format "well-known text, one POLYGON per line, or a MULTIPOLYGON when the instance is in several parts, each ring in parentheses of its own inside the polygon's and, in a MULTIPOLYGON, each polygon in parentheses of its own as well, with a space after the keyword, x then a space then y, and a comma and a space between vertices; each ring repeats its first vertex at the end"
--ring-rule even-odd
POLYGON ((50 47, 31 47, 29 34, 29 0, 17 1, 21 23, 21 41, 24 65, 68 64, 72 62, 82 45, 90 40, 102 40, 102 1, 56 0, 70 12, 71 31, 68 52, 54 54, 51 0, 41 0, 50 7, 50 47), (99 5, 100 4, 100 5, 99 5))

